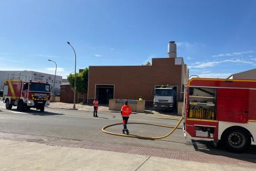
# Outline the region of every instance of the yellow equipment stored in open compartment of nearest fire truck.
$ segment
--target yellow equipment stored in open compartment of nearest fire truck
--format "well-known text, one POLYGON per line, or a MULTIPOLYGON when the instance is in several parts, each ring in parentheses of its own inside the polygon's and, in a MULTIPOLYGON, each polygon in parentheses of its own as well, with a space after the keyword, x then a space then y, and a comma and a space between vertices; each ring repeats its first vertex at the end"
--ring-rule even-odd
POLYGON ((190 106, 189 109, 189 118, 196 118, 196 119, 215 119, 214 110, 210 108, 202 108, 202 107, 195 107, 190 106))

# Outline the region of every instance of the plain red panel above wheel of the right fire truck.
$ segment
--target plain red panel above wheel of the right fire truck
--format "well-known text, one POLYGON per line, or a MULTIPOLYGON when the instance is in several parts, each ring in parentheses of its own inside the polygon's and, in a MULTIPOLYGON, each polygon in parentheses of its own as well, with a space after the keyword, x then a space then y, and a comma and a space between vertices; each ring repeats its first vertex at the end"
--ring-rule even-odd
POLYGON ((248 97, 248 89, 217 89, 217 120, 247 123, 248 97))

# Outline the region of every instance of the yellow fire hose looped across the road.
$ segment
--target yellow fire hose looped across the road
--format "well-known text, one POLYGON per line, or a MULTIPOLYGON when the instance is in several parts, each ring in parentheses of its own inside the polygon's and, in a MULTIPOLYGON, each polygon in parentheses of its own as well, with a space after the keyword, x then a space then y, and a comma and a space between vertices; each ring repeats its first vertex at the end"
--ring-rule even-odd
MULTIPOLYGON (((140 135, 125 135, 125 134, 118 134, 118 133, 114 133, 114 132, 109 132, 106 131, 105 129, 111 126, 115 126, 115 125, 122 125, 123 123, 114 123, 111 125, 107 125, 104 126, 102 128, 102 131, 105 132, 106 134, 111 134, 111 135, 117 135, 117 136, 122 136, 122 137, 130 137, 130 138, 142 138, 142 139, 148 139, 148 140, 157 140, 157 139, 163 139, 168 137, 169 135, 171 135, 176 129, 183 129, 180 128, 178 126, 180 126, 183 118, 182 117, 175 117, 175 116, 166 116, 165 114, 156 114, 158 116, 163 116, 163 117, 169 117, 172 120, 179 120, 179 122, 176 124, 176 126, 167 126, 167 125, 158 125, 158 124, 154 124, 154 123, 144 123, 144 122, 130 122, 128 124, 143 124, 143 125, 154 125, 154 126, 161 126, 161 127, 165 127, 165 128, 173 128, 168 134, 163 135, 161 137, 144 137, 144 136, 140 136, 140 135)), ((151 116, 152 117, 152 116, 151 116)))

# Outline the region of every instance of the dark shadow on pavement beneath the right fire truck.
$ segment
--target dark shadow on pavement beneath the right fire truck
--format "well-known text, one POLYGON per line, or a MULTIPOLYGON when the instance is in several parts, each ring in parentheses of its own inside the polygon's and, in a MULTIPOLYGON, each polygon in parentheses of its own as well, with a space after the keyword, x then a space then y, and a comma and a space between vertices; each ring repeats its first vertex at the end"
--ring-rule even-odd
POLYGON ((250 163, 256 163, 256 145, 251 145, 251 147, 243 154, 236 154, 228 152, 225 146, 219 144, 215 148, 213 146, 213 141, 205 140, 192 140, 195 151, 204 152, 210 155, 219 155, 223 157, 234 158, 237 160, 248 161, 250 163))

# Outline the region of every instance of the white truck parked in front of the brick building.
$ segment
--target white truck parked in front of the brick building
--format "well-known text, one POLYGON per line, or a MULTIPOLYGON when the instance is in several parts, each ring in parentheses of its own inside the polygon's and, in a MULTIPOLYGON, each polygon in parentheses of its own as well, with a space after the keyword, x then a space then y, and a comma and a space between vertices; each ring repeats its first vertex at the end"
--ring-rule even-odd
POLYGON ((176 95, 173 87, 156 88, 154 90, 154 109, 155 110, 172 110, 175 108, 176 95))

